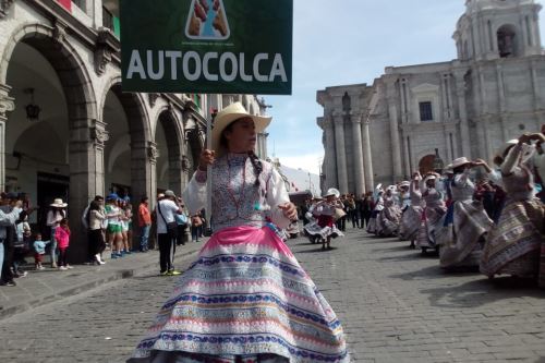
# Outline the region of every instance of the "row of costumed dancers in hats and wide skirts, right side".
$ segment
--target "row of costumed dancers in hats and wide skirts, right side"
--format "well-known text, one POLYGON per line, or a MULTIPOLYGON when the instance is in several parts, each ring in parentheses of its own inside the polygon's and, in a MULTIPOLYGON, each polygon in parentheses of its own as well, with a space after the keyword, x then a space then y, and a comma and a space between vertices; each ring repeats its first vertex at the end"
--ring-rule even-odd
POLYGON ((424 254, 435 250, 446 270, 479 268, 489 278, 535 278, 545 287, 545 207, 536 196, 536 180, 545 180, 543 142, 535 133, 505 143, 496 169, 461 157, 443 173, 415 172, 411 181, 378 185, 367 232, 398 235, 424 254), (475 176, 479 187, 502 196, 497 210, 486 210, 477 197, 475 176))

